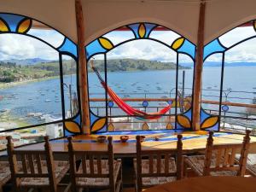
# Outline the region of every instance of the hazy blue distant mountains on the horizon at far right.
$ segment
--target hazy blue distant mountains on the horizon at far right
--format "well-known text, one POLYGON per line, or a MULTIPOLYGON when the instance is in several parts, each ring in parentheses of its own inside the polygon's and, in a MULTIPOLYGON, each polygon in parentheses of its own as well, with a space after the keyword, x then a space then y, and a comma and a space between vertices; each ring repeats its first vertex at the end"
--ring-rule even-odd
MULTIPOLYGON (((193 63, 179 63, 180 66, 183 67, 194 67, 193 63)), ((204 67, 221 67, 221 62, 205 62, 204 67)), ((225 67, 256 67, 256 62, 225 62, 225 67)))

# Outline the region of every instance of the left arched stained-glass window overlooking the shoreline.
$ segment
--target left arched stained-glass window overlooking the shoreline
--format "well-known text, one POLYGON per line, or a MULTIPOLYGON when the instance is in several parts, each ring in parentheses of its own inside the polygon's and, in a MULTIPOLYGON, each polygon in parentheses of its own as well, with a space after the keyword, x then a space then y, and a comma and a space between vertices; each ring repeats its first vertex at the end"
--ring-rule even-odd
POLYGON ((0 14, 0 149, 7 135, 19 146, 80 132, 77 57, 61 32, 0 14))

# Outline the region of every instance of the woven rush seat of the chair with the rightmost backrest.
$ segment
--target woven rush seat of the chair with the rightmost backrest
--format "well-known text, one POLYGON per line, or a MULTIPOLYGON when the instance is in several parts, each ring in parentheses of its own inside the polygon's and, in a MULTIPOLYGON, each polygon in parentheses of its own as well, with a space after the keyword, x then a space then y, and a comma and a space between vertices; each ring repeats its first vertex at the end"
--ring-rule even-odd
MULTIPOLYGON (((203 169, 205 163, 205 155, 192 155, 187 156, 184 159, 184 163, 186 163, 189 167, 191 167, 199 176, 203 176, 203 169)), ((216 166, 216 157, 212 154, 211 166, 216 166)), ((210 172, 212 176, 236 176, 236 171, 220 171, 220 172, 210 172)))

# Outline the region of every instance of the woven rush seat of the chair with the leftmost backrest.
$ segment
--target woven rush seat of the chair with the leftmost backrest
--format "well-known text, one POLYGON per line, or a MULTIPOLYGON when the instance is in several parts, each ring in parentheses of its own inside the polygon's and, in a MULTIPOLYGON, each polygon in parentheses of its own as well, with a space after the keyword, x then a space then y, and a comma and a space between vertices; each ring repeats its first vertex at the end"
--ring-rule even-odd
MULTIPOLYGON (((46 161, 42 162, 42 172, 47 172, 46 161)), ((61 179, 66 175, 69 170, 69 163, 67 161, 55 161, 55 177, 56 183, 60 183, 61 179)), ((29 170, 28 170, 29 172, 29 170)), ((37 166, 35 166, 35 172, 37 172, 37 166)), ((20 186, 23 187, 48 187, 49 178, 48 177, 22 177, 20 178, 20 186)))

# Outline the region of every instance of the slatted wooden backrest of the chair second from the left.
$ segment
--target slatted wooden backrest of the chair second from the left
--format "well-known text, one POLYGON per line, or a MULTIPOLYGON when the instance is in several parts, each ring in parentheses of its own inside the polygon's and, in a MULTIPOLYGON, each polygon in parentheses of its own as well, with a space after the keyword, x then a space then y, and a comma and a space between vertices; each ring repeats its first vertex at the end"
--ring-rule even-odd
MULTIPOLYGON (((101 151, 76 150, 72 143, 72 137, 67 137, 68 154, 70 161, 70 174, 75 191, 76 177, 108 177, 110 188, 114 187, 113 180, 113 144, 112 137, 108 137, 108 148, 101 151), (81 169, 76 169, 76 162, 81 161, 81 169), (102 169, 102 162, 108 164, 108 172, 102 169)), ((98 144, 98 143, 97 143, 98 144)), ((100 143, 101 145, 104 143, 100 143)), ((107 143, 106 143, 107 145, 107 143)), ((102 146, 103 147, 103 146, 102 146)))

